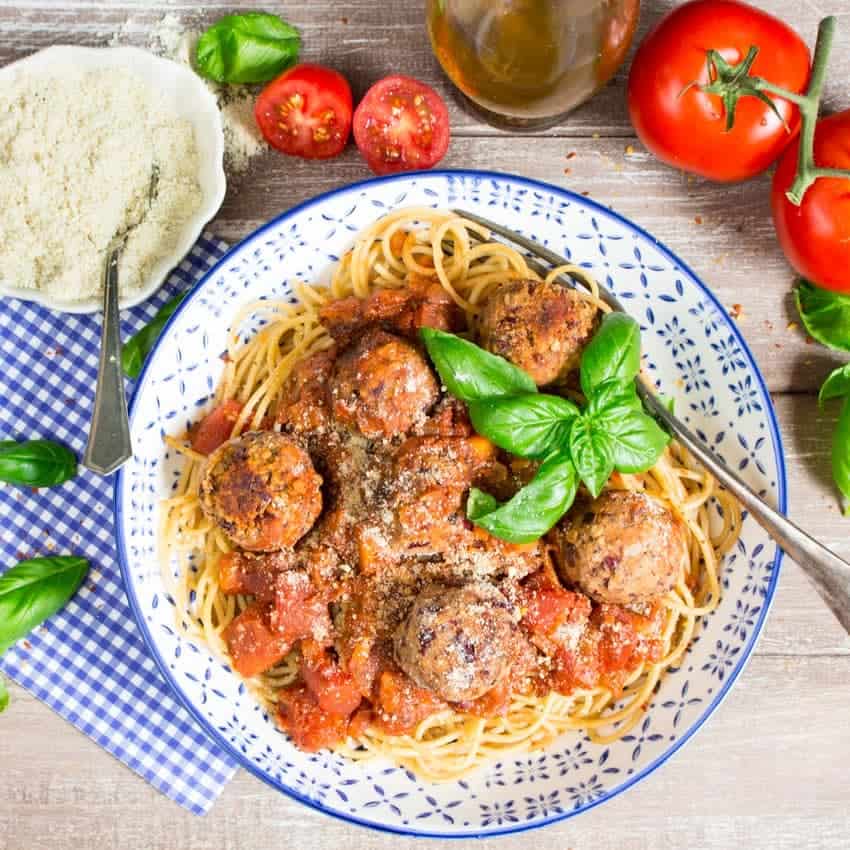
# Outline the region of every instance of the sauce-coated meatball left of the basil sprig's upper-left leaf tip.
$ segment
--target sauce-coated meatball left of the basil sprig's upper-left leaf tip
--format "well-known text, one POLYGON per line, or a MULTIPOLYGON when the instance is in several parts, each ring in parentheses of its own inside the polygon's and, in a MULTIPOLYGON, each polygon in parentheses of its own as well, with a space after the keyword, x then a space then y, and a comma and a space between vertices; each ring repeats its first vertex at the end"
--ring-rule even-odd
POLYGON ((438 396, 437 380, 419 351, 381 330, 367 331, 344 351, 331 377, 337 421, 370 439, 406 434, 438 396))

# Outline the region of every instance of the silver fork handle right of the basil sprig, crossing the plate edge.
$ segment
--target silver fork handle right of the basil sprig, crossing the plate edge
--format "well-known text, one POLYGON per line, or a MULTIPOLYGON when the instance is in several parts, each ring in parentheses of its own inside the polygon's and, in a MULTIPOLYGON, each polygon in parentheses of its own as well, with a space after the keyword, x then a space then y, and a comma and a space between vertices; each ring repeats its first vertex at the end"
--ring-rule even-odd
POLYGON ((705 443, 677 419, 642 381, 638 392, 647 410, 749 511, 759 525, 805 571, 824 602, 850 633, 850 564, 830 552, 802 528, 775 511, 731 469, 721 463, 705 443))

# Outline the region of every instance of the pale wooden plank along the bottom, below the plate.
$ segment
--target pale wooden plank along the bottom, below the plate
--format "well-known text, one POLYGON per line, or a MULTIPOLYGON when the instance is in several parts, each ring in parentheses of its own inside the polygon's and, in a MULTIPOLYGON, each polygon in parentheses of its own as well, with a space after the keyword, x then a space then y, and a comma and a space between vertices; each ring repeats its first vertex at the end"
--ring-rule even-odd
MULTIPOLYGON (((847 658, 756 657, 669 764, 618 799, 537 832, 540 850, 843 848, 850 830, 847 658)), ((240 774, 205 818, 160 796, 48 709, 13 691, 0 737, 0 847, 387 850, 398 838, 322 817, 240 774)), ((528 836, 485 848, 528 846, 528 836)), ((417 847, 445 847, 423 841, 417 847)))

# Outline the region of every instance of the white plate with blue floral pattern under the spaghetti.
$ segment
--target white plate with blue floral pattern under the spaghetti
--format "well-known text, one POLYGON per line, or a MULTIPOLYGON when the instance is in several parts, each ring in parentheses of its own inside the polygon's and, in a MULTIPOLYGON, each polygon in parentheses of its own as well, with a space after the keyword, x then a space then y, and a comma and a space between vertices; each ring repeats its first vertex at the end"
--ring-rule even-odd
POLYGON ((174 627, 156 534, 158 504, 174 485, 179 460, 162 435, 184 432, 207 408, 228 320, 242 304, 291 297, 293 279, 327 281, 357 231, 407 205, 477 212, 605 281, 640 321, 650 375, 675 398, 677 413, 784 511, 782 445, 764 380, 735 323, 681 260, 616 213, 554 186, 502 174, 430 172, 370 180, 295 207, 233 248, 186 298, 148 359, 131 405, 135 456, 115 486, 121 567, 163 675, 210 737, 247 770, 312 808, 377 829, 440 837, 516 832, 610 799, 702 726, 755 646, 781 553, 745 519, 722 565, 719 608, 681 666, 664 678, 643 722, 610 746, 569 734, 545 751, 434 785, 386 762, 354 764, 296 750, 238 676, 174 627))

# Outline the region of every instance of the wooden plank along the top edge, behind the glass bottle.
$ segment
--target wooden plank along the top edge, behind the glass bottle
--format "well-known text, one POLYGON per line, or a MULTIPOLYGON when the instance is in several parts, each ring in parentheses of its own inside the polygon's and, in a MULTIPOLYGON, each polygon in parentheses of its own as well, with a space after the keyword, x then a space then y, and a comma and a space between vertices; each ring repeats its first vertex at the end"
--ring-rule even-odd
MULTIPOLYGON (((303 35, 302 57, 338 67, 348 76, 355 95, 391 73, 404 73, 434 85, 456 104, 453 90, 434 59, 425 28, 424 2, 410 0, 358 0, 340 4, 335 0, 297 3, 286 0, 274 11, 295 24, 303 35)), ((675 5, 674 0, 644 2, 635 45, 658 20, 675 5)), ((814 43, 817 22, 826 11, 842 16, 842 31, 831 62, 826 105, 835 110, 850 105, 850 91, 843 81, 850 78, 850 18, 842 9, 821 9, 813 2, 763 0, 764 9, 787 20, 810 44, 814 43), (846 23, 845 23, 846 22, 846 23)), ((837 7, 839 4, 833 4, 837 7)), ((0 64, 49 44, 104 44, 112 33, 126 25, 129 38, 145 44, 156 21, 170 12, 201 29, 225 12, 256 8, 254 0, 212 0, 203 4, 187 0, 156 0, 151 3, 129 0, 3 0, 0 3, 0 64)), ((623 69, 592 100, 577 109, 560 126, 546 135, 632 136, 625 105, 625 81, 631 55, 623 69)), ((455 108, 452 122, 456 131, 494 135, 493 130, 461 108, 455 108)))

